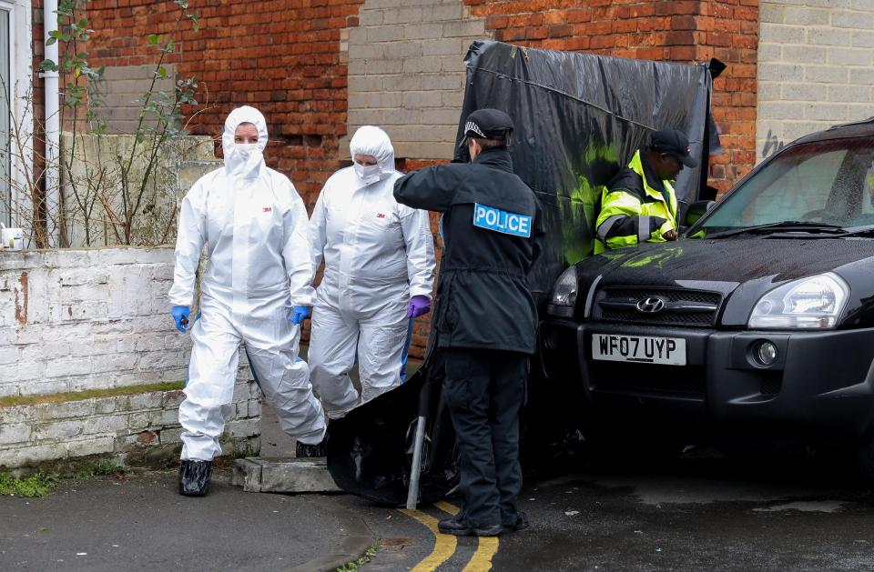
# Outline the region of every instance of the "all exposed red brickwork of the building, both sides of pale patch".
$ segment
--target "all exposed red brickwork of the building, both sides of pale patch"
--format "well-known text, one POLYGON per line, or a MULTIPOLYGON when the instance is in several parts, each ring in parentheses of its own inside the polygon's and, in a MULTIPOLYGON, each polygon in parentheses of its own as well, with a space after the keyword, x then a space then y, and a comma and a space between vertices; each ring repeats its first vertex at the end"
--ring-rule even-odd
MULTIPOLYGON (((198 100, 209 105, 198 115, 186 110, 191 131, 219 135, 231 108, 259 107, 269 122, 269 166, 290 176, 311 209, 346 156, 339 148, 348 108, 340 31, 358 25, 363 2, 191 0, 200 16, 195 32, 188 20, 177 27, 178 5, 170 0, 92 0, 87 16, 96 31, 88 51, 92 65, 143 65, 158 58, 147 35, 171 35, 177 53, 168 62, 178 77, 198 78, 198 100)), ((724 191, 755 163, 758 0, 463 2, 504 42, 684 63, 722 60, 728 68, 716 80, 713 109, 727 152, 711 158, 711 184, 724 191)), ((38 63, 41 0, 34 5, 38 63)), ((406 168, 414 166, 407 161, 406 168)), ((414 345, 424 345, 425 326, 420 318, 414 345)))

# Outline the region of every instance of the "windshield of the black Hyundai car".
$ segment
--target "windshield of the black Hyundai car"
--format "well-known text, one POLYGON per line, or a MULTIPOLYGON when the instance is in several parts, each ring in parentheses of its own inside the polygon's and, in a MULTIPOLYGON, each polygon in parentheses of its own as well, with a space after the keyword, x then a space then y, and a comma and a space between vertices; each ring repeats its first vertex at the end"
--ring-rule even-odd
POLYGON ((750 227, 812 234, 870 225, 874 137, 850 137, 781 151, 721 201, 691 235, 731 236, 750 227))

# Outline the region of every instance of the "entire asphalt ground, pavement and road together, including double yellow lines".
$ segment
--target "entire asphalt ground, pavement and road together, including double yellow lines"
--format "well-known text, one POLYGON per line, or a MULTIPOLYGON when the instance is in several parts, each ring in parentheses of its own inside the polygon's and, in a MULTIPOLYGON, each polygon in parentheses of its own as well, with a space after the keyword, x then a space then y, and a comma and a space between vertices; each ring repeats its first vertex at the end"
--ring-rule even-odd
MULTIPOLYGON (((290 456, 274 422, 266 409, 264 454, 290 456)), ((46 498, 0 497, 0 570, 283 571, 336 554, 350 529, 342 515, 380 542, 365 572, 874 569, 874 494, 828 459, 617 457, 527 473, 531 527, 480 541, 435 534, 453 498, 405 511, 244 493, 227 470, 205 498, 179 497, 174 471, 63 481, 46 498)))

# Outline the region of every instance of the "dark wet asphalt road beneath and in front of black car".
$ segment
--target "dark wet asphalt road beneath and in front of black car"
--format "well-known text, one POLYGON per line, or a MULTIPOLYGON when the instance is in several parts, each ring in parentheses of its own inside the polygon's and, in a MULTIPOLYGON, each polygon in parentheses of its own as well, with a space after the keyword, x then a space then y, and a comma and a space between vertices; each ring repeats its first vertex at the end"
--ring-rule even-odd
MULTIPOLYGON (((531 527, 500 538, 493 570, 874 569, 874 496, 827 460, 692 450, 660 465, 551 470, 528 477, 520 505, 531 527)), ((345 502, 388 540, 362 570, 411 569, 436 545, 411 517, 345 502)), ((441 567, 417 569, 487 569, 465 568, 477 550, 462 538, 441 567)))

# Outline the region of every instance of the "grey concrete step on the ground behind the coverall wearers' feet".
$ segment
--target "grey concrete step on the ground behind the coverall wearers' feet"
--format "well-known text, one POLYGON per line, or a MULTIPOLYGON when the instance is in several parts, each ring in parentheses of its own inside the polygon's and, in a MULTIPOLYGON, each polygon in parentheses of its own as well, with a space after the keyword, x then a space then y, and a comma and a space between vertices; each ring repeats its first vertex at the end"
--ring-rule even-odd
POLYGON ((340 492, 328 473, 325 457, 237 459, 232 483, 251 493, 340 492))

